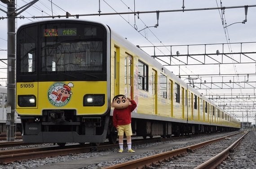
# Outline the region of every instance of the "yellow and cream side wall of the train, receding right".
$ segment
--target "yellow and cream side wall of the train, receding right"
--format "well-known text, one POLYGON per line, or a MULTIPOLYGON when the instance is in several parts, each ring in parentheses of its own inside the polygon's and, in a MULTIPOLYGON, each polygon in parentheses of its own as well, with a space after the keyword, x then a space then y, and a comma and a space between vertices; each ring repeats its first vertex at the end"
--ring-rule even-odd
MULTIPOLYGON (((217 114, 213 115, 213 108, 208 107, 207 112, 205 112, 205 102, 202 96, 200 97, 198 92, 190 91, 184 84, 181 84, 178 80, 173 79, 168 74, 165 74, 161 69, 156 68, 154 64, 148 62, 148 60, 143 59, 140 54, 130 50, 126 43, 120 43, 120 39, 111 39, 111 97, 113 98, 117 94, 124 94, 131 97, 137 102, 137 108, 134 111, 137 114, 144 115, 155 115, 156 117, 167 117, 172 119, 177 119, 185 122, 202 123, 210 125, 228 125, 221 121, 221 118, 217 114), (125 59, 132 57, 132 84, 129 85, 125 78, 127 75, 127 65, 125 64, 125 59), (146 63, 148 66, 148 90, 138 89, 137 76, 138 72, 138 61, 146 63), (115 68, 117 67, 117 68, 115 68), (156 72, 157 80, 155 83, 157 85, 157 92, 154 94, 154 82, 153 73, 156 72), (167 77, 167 81, 172 81, 173 84, 177 83, 180 85, 180 102, 174 101, 174 94, 171 94, 171 84, 168 84, 168 94, 167 98, 160 96, 160 83, 159 74, 167 77), (114 83, 113 83, 114 82, 114 83), (186 93, 185 93, 186 91, 186 93), (188 96, 190 92, 190 96, 188 96), (197 95, 197 108, 194 108, 194 95, 197 95), (186 95, 186 96, 185 96, 186 95), (186 100, 186 99, 187 100, 186 100), (185 103, 186 102, 186 103, 185 103)), ((113 108, 112 108, 113 109, 113 108)), ((216 109, 217 110, 217 109, 216 109)), ((216 113, 216 112, 215 112, 216 113)), ((229 124, 230 125, 230 124, 229 124)), ((238 126, 238 125, 237 125, 238 126)))

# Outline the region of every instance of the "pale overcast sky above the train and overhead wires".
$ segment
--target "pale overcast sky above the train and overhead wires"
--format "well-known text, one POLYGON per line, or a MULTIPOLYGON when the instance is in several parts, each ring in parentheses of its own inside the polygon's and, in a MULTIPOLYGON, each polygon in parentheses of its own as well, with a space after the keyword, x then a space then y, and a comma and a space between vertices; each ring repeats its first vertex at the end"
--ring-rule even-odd
MULTIPOLYGON (((22 7, 32 0, 16 0, 17 8, 22 7)), ((17 19, 17 27, 31 22, 48 20, 50 18, 31 17, 66 15, 66 11, 72 15, 82 15, 98 13, 99 1, 101 13, 132 12, 132 11, 163 11, 181 10, 183 0, 39 0, 33 6, 22 12, 21 16, 25 19, 17 19), (51 4, 51 1, 53 4, 51 4)), ((197 8, 217 8, 234 7, 244 5, 256 5, 255 0, 184 0, 184 9, 197 8), (222 2, 222 4, 221 4, 222 2)), ((6 4, 0 2, 0 8, 7 10, 6 4)), ((242 22, 245 19, 245 8, 226 8, 222 10, 200 10, 185 12, 159 13, 159 26, 150 27, 157 23, 156 13, 141 13, 134 17, 134 14, 126 15, 101 15, 90 17, 79 17, 83 20, 100 21, 109 25, 113 30, 127 38, 135 45, 139 46, 159 46, 159 45, 192 45, 209 43, 227 42, 256 42, 256 7, 248 8, 247 22, 230 25, 227 29, 223 28, 221 16, 224 23, 230 25, 235 22, 242 22), (224 14, 223 14, 224 12, 224 14), (148 26, 150 28, 142 30, 148 26), (137 28, 134 29, 134 27, 137 28), (141 30, 139 34, 138 30, 141 30), (226 32, 226 34, 225 34, 226 32)), ((6 17, 6 13, 0 11, 0 17, 6 17)), ((19 16, 18 16, 19 17, 19 16)), ((74 18, 74 17, 70 17, 74 18)), ((54 18, 58 19, 58 18, 54 18)), ((226 26, 224 25, 224 26, 226 26)), ((7 19, 0 20, 0 49, 7 49, 7 19)), ((146 50, 146 49, 145 49, 146 50)), ((183 49, 177 49, 182 54, 183 49)), ((201 50, 201 49, 200 49, 201 50)), ((216 51, 216 48, 212 49, 216 51)), ((238 50, 239 46, 233 46, 233 51, 238 50)), ((254 49, 255 51, 255 49, 254 49)), ((153 55, 152 50, 147 51, 153 55)), ((169 55, 169 51, 164 51, 164 55, 169 55)), ((185 50, 186 52, 186 50, 185 50)), ((198 52, 199 53, 199 52, 198 52)), ((161 52, 157 51, 157 54, 161 52)), ((0 51, 0 59, 7 59, 7 51, 0 51)), ((0 63, 0 78, 6 78, 7 66, 0 63)), ((255 65, 234 65, 221 66, 221 73, 255 73, 255 65)), ((219 66, 190 66, 171 67, 170 70, 176 75, 202 74, 206 70, 209 73, 219 73, 219 66)), ((6 79, 1 80, 0 84, 6 85, 6 79)), ((214 92, 214 91, 213 91, 214 92)), ((250 92, 252 93, 252 92, 250 92)))

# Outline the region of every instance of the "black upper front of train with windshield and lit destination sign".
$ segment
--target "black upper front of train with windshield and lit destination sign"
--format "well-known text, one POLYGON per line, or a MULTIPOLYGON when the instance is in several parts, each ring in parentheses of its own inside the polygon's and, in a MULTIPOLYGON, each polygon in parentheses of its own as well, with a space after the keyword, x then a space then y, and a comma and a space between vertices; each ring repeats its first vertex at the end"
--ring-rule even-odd
POLYGON ((106 29, 101 25, 42 22, 20 30, 17 42, 21 75, 37 74, 42 80, 56 74, 59 80, 65 75, 74 80, 106 76, 106 29))

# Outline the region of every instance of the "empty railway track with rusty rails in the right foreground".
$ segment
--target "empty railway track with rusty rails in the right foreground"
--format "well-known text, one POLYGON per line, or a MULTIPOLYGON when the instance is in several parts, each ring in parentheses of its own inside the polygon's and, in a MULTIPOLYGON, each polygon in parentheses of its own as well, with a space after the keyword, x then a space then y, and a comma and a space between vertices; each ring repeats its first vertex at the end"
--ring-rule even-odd
POLYGON ((214 169, 229 155, 247 133, 228 135, 194 144, 185 148, 163 152, 154 156, 127 161, 104 169, 160 169, 175 167, 175 169, 214 169), (242 136, 241 136, 242 135, 242 136))

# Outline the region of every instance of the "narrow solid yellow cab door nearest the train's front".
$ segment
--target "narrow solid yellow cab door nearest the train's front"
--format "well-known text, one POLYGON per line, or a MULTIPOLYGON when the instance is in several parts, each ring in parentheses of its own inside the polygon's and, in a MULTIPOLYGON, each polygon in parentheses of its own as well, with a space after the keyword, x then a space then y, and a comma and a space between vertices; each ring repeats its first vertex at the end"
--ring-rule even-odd
POLYGON ((115 56, 114 56, 114 69, 115 69, 115 76, 114 76, 114 84, 115 84, 115 95, 119 94, 119 68, 120 68, 120 48, 115 46, 115 56))

